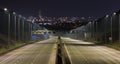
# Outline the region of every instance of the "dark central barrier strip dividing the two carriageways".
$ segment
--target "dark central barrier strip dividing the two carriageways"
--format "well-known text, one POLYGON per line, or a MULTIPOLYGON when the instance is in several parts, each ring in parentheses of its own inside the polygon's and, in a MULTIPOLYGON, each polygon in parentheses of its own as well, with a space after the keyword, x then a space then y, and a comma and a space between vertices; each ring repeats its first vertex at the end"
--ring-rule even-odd
POLYGON ((56 57, 56 64, 71 64, 65 44, 60 37, 58 37, 56 57))

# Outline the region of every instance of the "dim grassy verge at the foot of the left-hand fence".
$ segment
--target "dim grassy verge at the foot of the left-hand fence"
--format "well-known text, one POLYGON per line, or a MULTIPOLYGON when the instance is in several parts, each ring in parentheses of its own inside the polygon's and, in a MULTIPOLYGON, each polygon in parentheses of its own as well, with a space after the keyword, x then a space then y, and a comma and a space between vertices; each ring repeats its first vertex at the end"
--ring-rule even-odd
POLYGON ((7 44, 7 40, 8 40, 7 35, 0 33, 0 55, 5 54, 16 48, 22 47, 24 45, 36 42, 36 41, 26 41, 26 43, 23 43, 23 42, 15 42, 11 40, 10 41, 11 43, 7 44))

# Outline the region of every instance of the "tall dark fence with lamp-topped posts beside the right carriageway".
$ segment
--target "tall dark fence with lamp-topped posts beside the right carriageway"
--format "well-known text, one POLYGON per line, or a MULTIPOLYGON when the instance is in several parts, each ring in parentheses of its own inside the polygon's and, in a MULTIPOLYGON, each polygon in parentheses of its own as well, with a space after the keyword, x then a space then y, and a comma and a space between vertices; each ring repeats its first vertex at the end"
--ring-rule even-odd
POLYGON ((105 15, 98 20, 90 21, 81 29, 77 30, 80 31, 77 38, 81 38, 82 36, 80 35, 84 32, 84 38, 81 38, 84 40, 102 41, 104 43, 113 43, 119 40, 120 42, 120 11, 105 15))

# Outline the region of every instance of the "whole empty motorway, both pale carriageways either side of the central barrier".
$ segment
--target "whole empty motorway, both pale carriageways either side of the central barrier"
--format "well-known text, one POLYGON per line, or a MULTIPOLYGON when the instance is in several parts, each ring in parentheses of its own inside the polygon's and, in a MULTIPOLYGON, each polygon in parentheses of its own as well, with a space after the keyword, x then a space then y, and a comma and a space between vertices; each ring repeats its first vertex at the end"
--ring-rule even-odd
MULTIPOLYGON (((56 64, 57 37, 0 56, 0 64, 56 64)), ((71 64, 120 64, 120 51, 91 42, 62 38, 71 64)))

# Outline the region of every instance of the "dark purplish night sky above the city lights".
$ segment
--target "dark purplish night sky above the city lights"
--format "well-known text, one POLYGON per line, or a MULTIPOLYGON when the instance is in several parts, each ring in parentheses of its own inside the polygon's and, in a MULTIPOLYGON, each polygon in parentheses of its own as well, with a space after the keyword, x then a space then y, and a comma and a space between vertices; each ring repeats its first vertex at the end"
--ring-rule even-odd
POLYGON ((102 17, 120 9, 120 0, 1 0, 0 7, 7 7, 23 16, 94 16, 102 17))

